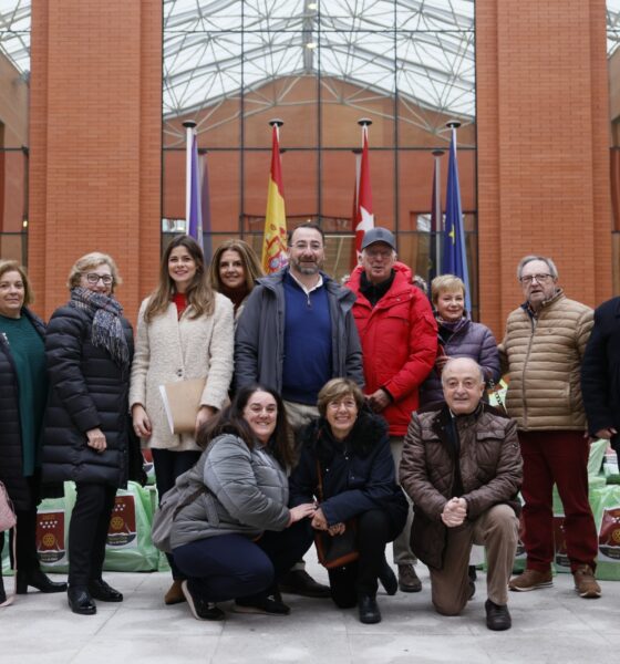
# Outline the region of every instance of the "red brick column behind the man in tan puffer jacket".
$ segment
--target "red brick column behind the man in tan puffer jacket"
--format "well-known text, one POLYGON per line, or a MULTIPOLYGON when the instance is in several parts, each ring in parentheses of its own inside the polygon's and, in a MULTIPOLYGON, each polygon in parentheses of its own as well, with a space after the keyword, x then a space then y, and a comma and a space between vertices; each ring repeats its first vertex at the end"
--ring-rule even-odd
POLYGON ((476 2, 480 318, 500 336, 527 253, 611 297, 604 0, 476 2))

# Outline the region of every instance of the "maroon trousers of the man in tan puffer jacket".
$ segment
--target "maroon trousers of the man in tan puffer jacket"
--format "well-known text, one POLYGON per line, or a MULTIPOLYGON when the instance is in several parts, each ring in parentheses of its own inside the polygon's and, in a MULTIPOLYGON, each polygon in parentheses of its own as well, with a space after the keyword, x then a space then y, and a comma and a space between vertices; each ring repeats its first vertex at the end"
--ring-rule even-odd
POLYGON ((588 454, 582 432, 519 432, 524 458, 524 544, 527 567, 549 570, 554 560, 554 483, 564 511, 570 569, 596 568, 598 537, 588 501, 588 454))

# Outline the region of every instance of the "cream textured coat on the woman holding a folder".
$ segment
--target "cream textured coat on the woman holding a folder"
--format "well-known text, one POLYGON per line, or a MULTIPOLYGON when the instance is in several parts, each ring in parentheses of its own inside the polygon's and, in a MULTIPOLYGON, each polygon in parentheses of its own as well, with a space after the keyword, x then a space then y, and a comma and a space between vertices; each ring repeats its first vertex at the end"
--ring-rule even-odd
POLYGON ((151 323, 144 320, 148 298, 138 319, 130 405, 142 404, 151 419, 153 434, 143 440, 147 447, 185 452, 198 449, 190 434, 173 435, 167 424, 159 385, 185 378, 207 378, 200 404, 221 408, 232 377, 232 304, 216 293, 213 315, 190 319, 186 309, 177 320, 170 303, 165 314, 151 323))

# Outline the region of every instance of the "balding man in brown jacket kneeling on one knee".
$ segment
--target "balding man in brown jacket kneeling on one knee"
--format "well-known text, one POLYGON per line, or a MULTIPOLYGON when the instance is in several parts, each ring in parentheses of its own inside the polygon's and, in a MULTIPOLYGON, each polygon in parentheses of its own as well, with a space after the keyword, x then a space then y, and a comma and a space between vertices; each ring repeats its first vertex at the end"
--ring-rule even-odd
POLYGON ((475 592, 472 544, 484 544, 486 624, 508 630, 523 468, 516 425, 482 402, 485 380, 474 360, 450 360, 442 385, 445 405, 414 413, 404 442, 401 486, 415 505, 411 546, 431 572, 435 609, 456 615, 475 592))

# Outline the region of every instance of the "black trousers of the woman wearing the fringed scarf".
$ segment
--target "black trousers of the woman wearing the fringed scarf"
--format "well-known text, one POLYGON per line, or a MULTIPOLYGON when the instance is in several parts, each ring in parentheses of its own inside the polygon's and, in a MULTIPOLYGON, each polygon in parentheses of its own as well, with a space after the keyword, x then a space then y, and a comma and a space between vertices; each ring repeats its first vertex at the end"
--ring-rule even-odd
POLYGON ((69 525, 69 584, 87 585, 101 579, 116 488, 78 483, 75 490, 75 507, 69 525))

